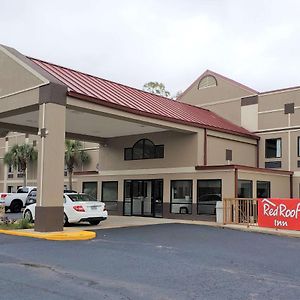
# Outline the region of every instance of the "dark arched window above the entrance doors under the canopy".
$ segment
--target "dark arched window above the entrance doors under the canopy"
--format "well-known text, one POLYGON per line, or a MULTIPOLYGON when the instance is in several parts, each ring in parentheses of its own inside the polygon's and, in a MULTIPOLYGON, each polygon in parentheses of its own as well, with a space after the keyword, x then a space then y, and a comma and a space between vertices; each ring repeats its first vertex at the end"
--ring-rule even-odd
POLYGON ((164 158, 164 145, 154 145, 148 139, 141 139, 132 148, 124 149, 124 160, 153 158, 164 158))

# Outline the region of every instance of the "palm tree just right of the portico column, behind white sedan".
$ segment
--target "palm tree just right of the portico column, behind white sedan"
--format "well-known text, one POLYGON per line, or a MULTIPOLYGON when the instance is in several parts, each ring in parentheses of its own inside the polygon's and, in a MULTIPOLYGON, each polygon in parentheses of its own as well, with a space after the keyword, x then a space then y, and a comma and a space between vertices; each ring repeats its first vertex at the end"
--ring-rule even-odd
POLYGON ((65 164, 69 175, 69 189, 72 190, 72 176, 74 167, 87 164, 90 161, 89 154, 83 150, 83 145, 79 141, 65 141, 65 164))

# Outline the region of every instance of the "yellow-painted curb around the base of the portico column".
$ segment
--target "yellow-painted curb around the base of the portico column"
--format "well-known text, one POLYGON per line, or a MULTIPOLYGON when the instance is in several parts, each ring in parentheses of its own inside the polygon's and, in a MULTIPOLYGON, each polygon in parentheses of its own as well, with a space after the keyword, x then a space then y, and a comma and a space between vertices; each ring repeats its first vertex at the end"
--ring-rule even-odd
POLYGON ((72 231, 72 232, 25 232, 22 230, 5 230, 0 229, 0 233, 33 237, 37 239, 51 240, 51 241, 84 241, 91 240, 96 237, 96 232, 94 231, 72 231))

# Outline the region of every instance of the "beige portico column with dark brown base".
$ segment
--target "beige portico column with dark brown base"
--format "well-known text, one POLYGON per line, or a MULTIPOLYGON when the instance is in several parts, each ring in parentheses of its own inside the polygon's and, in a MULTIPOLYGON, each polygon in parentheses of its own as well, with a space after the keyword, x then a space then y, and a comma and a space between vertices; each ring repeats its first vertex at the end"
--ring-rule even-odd
POLYGON ((40 104, 35 231, 63 230, 65 120, 64 105, 40 104))

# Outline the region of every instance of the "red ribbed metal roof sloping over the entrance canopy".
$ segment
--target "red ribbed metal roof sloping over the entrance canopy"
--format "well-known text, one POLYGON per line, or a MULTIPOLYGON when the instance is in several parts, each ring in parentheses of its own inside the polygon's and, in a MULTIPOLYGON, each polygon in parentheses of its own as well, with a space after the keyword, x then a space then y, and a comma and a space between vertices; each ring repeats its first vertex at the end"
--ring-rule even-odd
POLYGON ((138 115, 258 139, 248 130, 209 110, 38 59, 29 59, 64 83, 70 96, 138 115))

